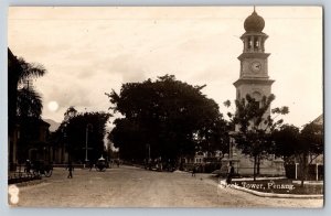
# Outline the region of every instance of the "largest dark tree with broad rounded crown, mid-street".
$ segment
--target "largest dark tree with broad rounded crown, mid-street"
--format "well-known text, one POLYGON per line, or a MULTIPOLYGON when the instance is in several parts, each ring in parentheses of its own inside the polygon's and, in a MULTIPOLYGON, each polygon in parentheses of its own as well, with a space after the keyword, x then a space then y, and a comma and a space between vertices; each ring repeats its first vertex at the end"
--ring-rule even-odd
POLYGON ((120 156, 174 160, 218 143, 225 122, 218 105, 201 91, 204 87, 166 75, 154 82, 124 84, 119 94, 106 94, 111 109, 122 116, 109 133, 120 156))

